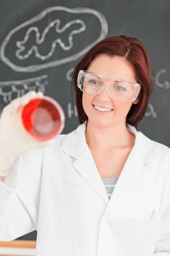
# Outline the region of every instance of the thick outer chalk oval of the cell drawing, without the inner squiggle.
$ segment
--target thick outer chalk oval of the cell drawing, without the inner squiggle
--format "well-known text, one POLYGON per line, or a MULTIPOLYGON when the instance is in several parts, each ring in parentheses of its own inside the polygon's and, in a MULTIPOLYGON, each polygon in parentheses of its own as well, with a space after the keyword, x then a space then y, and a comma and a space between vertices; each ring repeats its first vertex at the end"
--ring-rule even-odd
POLYGON ((108 33, 107 20, 104 17, 104 15, 102 13, 100 13, 99 11, 96 11, 96 10, 91 9, 91 8, 83 8, 83 7, 78 7, 78 8, 74 8, 74 9, 67 8, 67 7, 62 7, 62 6, 48 7, 44 11, 39 13, 37 16, 35 16, 34 18, 31 18, 30 20, 27 20, 26 22, 22 23, 18 27, 15 27, 14 29, 12 29, 9 32, 9 34, 7 34, 6 38, 4 38, 4 40, 3 40, 3 42, 0 46, 0 58, 5 64, 7 64, 9 67, 11 67, 11 69, 13 69, 16 72, 36 72, 38 70, 46 69, 46 68, 49 68, 49 67, 55 67, 55 66, 58 66, 58 65, 62 65, 64 63, 68 63, 68 62, 77 60, 78 58, 83 56, 93 45, 95 45, 100 40, 104 39, 107 33, 108 33), (44 18, 44 16, 46 16, 47 13, 50 13, 51 11, 55 11, 55 10, 64 10, 68 13, 91 13, 91 14, 94 14, 99 19, 99 21, 101 23, 100 36, 97 38, 97 40, 95 40, 93 43, 88 45, 82 51, 80 51, 76 54, 73 54, 72 56, 68 56, 66 58, 63 58, 61 60, 51 61, 49 63, 44 63, 44 64, 40 64, 40 65, 31 65, 31 66, 28 66, 28 67, 21 67, 21 66, 13 64, 9 60, 9 58, 7 58, 4 54, 5 47, 7 46, 7 43, 9 42, 11 36, 13 36, 13 34, 16 31, 22 29, 23 27, 26 27, 27 25, 31 25, 35 21, 37 22, 37 21, 41 20, 42 18, 44 18))

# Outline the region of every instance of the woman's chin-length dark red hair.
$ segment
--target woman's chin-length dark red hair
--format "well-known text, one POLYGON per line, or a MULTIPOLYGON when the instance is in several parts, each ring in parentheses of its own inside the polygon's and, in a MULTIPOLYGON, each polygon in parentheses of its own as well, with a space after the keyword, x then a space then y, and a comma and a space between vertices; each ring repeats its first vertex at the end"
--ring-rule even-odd
POLYGON ((94 45, 76 65, 73 72, 72 89, 75 91, 77 114, 80 124, 88 120, 82 105, 82 91, 77 87, 77 76, 79 70, 87 70, 91 62, 97 56, 105 54, 108 56, 121 56, 133 67, 135 79, 141 84, 139 103, 132 104, 126 123, 137 128, 139 121, 144 118, 148 107, 150 94, 152 92, 152 76, 150 63, 146 49, 142 43, 134 37, 112 36, 105 38, 94 45))

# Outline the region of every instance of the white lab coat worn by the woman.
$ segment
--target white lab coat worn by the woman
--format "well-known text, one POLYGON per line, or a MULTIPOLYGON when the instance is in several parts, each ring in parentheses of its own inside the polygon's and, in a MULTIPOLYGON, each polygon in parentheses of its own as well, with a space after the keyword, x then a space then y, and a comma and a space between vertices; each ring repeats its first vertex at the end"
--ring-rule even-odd
MULTIPOLYGON (((85 128, 15 161, 0 182, 0 240, 38 230, 37 256, 122 256, 111 220, 149 219, 153 209, 170 220, 170 149, 128 125, 135 145, 109 200, 85 128)), ((170 221, 153 255, 170 256, 170 221)))

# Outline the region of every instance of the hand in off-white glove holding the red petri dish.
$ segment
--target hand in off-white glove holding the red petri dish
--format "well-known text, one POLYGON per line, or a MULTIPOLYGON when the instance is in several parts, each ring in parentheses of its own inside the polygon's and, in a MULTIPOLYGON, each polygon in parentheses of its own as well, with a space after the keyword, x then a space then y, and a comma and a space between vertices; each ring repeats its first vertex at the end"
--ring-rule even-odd
POLYGON ((21 113, 31 99, 42 98, 42 92, 31 91, 4 107, 0 116, 0 176, 7 176, 16 158, 29 150, 50 146, 53 140, 38 141, 24 129, 21 113))

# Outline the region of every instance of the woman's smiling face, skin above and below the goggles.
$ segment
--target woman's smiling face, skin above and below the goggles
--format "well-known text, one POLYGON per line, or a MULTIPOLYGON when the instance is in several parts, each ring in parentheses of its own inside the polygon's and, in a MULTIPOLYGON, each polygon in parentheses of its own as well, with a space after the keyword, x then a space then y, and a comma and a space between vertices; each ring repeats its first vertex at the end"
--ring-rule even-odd
MULTIPOLYGON (((110 57, 102 54, 91 62, 87 71, 137 83, 132 67, 126 60, 119 56, 110 57)), ((102 127, 126 124, 126 116, 132 104, 137 104, 138 101, 138 98, 133 102, 122 103, 113 101, 109 98, 106 90, 102 90, 102 92, 96 96, 83 92, 82 96, 83 108, 88 116, 88 122, 102 127), (112 110, 102 112, 97 110, 95 106, 112 110)))

